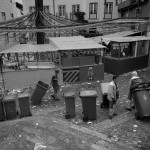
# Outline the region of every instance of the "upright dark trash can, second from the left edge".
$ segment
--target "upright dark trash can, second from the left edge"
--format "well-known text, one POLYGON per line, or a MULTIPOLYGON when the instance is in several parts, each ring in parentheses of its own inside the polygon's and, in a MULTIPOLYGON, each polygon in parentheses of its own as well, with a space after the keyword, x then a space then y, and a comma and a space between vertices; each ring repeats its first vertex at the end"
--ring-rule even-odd
POLYGON ((5 117, 7 120, 17 118, 16 101, 12 95, 6 96, 3 99, 5 117))

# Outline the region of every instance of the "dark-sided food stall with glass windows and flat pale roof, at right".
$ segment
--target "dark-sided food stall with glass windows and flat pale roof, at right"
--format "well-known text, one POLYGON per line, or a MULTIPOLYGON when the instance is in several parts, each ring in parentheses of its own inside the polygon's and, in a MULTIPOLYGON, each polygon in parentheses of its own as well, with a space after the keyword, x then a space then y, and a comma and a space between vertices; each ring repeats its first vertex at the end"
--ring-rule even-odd
POLYGON ((103 57, 105 72, 120 75, 148 67, 150 37, 103 37, 102 40, 110 44, 103 57))

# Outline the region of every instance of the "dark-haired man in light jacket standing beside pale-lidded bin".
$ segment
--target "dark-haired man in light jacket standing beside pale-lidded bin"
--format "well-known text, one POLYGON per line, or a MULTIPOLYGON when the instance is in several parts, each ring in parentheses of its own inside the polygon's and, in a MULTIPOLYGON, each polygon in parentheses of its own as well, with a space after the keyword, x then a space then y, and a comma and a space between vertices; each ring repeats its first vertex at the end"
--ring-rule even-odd
POLYGON ((117 76, 113 76, 112 81, 108 86, 107 99, 109 100, 109 119, 112 119, 113 115, 116 113, 116 102, 119 97, 118 86, 117 86, 117 76))

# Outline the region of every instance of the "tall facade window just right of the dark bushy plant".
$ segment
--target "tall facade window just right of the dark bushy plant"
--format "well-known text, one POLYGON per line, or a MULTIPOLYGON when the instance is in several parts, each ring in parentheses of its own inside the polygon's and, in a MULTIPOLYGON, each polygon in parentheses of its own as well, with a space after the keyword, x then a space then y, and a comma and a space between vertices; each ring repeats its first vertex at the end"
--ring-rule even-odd
POLYGON ((97 19, 97 3, 90 3, 89 4, 89 18, 90 19, 97 19))

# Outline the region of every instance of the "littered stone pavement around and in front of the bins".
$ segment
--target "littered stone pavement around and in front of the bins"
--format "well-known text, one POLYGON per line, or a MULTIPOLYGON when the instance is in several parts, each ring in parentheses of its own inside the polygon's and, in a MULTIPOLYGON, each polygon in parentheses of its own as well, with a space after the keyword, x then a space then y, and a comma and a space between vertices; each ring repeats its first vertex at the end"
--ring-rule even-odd
MULTIPOLYGON (((139 76, 150 80, 150 68, 138 71, 139 76)), ((102 82, 110 82, 112 75, 105 74, 102 82)), ((100 83, 66 84, 61 87, 60 101, 51 98, 50 89, 42 105, 32 106, 32 116, 0 122, 0 150, 150 150, 150 120, 136 120, 128 106, 130 73, 119 77, 120 98, 117 116, 108 119, 108 109, 102 109, 100 83), (81 90, 94 89, 97 120, 83 122, 81 90), (74 91, 76 117, 65 119, 63 93, 74 91)))

